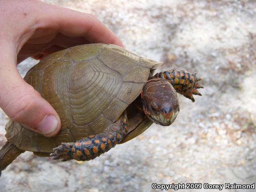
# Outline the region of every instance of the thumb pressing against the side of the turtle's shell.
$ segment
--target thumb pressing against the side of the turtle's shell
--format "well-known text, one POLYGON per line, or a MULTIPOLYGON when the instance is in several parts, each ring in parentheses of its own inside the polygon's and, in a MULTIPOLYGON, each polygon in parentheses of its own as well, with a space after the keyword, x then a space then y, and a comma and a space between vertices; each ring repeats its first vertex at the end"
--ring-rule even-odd
POLYGON ((11 120, 45 136, 55 136, 60 131, 60 117, 20 76, 16 61, 10 59, 15 57, 8 56, 4 60, 0 54, 0 107, 11 120))

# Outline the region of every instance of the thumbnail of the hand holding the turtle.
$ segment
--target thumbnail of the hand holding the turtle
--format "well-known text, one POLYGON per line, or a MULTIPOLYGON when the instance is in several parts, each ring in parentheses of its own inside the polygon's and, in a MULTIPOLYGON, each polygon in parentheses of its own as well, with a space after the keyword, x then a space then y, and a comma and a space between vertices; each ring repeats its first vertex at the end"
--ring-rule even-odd
POLYGON ((58 120, 54 115, 47 115, 40 124, 38 124, 37 129, 44 135, 48 135, 56 131, 58 126, 58 120))

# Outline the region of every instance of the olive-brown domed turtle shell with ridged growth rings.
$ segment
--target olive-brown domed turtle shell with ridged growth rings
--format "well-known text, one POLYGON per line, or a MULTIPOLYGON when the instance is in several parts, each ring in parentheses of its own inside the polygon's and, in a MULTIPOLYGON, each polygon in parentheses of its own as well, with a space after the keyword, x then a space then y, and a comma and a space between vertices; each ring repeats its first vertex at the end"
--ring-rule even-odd
MULTIPOLYGON (((98 134, 117 121, 161 64, 109 44, 78 45, 46 56, 24 79, 59 114, 61 130, 54 137, 45 137, 10 121, 6 137, 20 149, 40 155, 52 152, 62 142, 98 134)), ((131 131, 150 126, 151 122, 143 124, 144 120, 130 107, 131 131)))

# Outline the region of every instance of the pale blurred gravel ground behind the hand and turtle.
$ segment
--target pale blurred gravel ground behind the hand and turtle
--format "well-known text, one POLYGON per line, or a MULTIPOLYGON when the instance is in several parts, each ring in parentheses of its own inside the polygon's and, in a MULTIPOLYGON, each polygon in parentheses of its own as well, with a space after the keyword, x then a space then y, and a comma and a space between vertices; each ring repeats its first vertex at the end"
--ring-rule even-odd
MULTIPOLYGON (((153 124, 93 161, 62 163, 22 154, 2 173, 0 191, 149 192, 155 191, 152 183, 256 181, 255 0, 45 2, 93 13, 127 49, 164 61, 160 70, 197 72, 205 88, 195 103, 179 97, 181 112, 170 127, 153 124)), ((21 73, 33 64, 24 61, 21 73)), ((4 113, 0 120, 3 144, 4 113)))

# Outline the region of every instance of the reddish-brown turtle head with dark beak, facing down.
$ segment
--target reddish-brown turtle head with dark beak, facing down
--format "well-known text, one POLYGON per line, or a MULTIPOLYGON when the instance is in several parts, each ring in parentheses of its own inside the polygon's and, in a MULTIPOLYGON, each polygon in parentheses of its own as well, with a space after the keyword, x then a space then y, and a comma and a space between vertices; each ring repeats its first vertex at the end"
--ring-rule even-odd
POLYGON ((143 111, 156 124, 169 126, 176 119, 180 105, 177 93, 166 79, 151 79, 142 93, 143 111))

